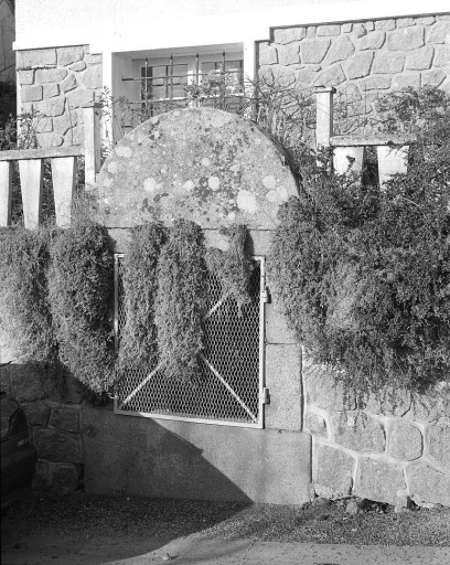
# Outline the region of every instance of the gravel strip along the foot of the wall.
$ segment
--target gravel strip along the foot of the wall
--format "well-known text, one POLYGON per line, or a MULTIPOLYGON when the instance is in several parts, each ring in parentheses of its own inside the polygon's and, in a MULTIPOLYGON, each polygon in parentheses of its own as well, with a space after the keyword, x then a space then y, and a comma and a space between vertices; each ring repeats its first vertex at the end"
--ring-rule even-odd
POLYGON ((395 513, 387 504, 345 512, 346 501, 303 507, 107 498, 77 492, 34 495, 2 515, 2 531, 23 534, 137 535, 352 545, 450 546, 450 509, 395 513))

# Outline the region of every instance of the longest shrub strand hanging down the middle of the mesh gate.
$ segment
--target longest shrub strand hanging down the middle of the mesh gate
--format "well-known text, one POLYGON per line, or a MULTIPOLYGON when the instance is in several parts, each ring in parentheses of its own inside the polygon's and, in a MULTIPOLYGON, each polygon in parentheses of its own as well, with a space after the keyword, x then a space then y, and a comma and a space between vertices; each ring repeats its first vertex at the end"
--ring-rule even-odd
POLYGON ((154 309, 158 354, 168 379, 193 382, 199 375, 206 276, 202 228, 178 220, 161 249, 154 309))

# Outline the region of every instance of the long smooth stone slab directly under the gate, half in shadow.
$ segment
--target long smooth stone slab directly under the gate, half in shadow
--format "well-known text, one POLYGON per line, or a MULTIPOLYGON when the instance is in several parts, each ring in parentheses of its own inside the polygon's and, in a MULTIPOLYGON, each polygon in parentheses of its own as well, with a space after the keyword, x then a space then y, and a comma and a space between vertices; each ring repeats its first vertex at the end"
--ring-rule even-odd
POLYGON ((85 405, 83 425, 88 493, 310 501, 309 435, 131 418, 85 405))

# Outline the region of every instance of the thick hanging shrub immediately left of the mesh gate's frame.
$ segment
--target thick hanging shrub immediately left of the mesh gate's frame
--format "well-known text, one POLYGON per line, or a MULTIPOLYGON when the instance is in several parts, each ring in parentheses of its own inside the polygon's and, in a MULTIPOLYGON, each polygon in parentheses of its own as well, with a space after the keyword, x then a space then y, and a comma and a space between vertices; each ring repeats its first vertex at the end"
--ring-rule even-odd
POLYGON ((60 359, 95 393, 114 383, 113 335, 108 313, 114 263, 107 232, 98 225, 61 231, 51 247, 49 298, 60 359))

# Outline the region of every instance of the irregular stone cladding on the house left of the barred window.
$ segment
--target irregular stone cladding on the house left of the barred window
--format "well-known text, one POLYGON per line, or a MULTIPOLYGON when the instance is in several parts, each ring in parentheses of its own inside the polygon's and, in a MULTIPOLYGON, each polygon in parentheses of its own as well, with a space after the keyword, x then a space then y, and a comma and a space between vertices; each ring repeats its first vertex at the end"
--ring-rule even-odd
POLYGON ((89 54, 86 45, 18 51, 17 68, 19 110, 39 111, 39 146, 82 143, 79 108, 101 94, 101 55, 89 54))

